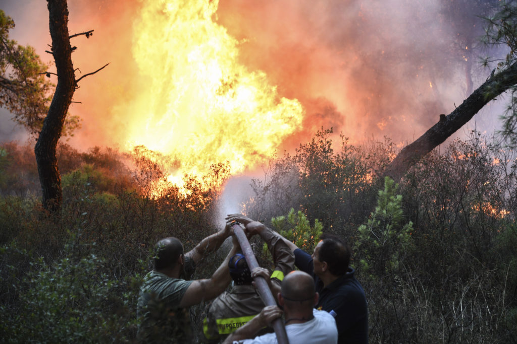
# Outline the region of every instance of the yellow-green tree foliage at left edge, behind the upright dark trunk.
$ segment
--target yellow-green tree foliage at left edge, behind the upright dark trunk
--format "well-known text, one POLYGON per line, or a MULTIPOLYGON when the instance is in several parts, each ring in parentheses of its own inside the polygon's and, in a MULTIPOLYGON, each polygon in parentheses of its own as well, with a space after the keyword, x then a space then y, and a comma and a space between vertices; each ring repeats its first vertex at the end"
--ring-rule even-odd
MULTIPOLYGON (((54 85, 45 79, 49 65, 41 61, 34 48, 9 39, 13 27, 12 18, 0 10, 0 107, 37 135, 47 116, 54 85)), ((68 114, 62 135, 72 136, 79 127, 79 117, 68 114)))

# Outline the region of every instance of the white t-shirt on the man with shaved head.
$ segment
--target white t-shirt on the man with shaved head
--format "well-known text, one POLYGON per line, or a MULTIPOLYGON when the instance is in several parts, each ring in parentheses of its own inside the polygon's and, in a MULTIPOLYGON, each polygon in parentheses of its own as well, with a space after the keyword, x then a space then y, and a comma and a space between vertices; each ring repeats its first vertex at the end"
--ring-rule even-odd
MULTIPOLYGON (((301 324, 291 324, 285 326, 287 338, 292 344, 331 344, 338 342, 338 328, 336 320, 325 310, 313 309, 314 319, 301 324)), ((242 341, 234 341, 235 343, 244 344, 277 344, 277 335, 268 333, 255 339, 245 339, 242 341)))

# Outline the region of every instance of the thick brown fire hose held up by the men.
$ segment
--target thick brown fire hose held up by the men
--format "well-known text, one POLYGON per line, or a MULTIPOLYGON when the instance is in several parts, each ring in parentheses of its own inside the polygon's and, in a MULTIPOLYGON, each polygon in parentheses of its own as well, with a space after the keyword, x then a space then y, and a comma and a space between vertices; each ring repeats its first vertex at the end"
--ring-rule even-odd
MULTIPOLYGON (((244 231, 242 231, 242 228, 240 227, 238 222, 234 222, 232 224, 232 228, 233 232, 235 233, 235 236, 237 237, 237 240, 239 241, 242 253, 244 253, 244 256, 246 257, 246 263, 248 263, 250 271, 255 268, 259 268, 260 266, 258 265, 255 255, 253 254, 253 250, 251 249, 251 245, 248 241, 248 238, 246 238, 246 234, 244 234, 244 231)), ((255 282, 258 294, 260 294, 260 297, 262 301, 264 301, 264 304, 266 306, 276 306, 277 301, 273 297, 273 294, 271 293, 271 290, 269 289, 267 281, 264 279, 264 277, 254 277, 253 281, 255 282)), ((285 326, 282 321, 282 318, 273 320, 271 324, 273 326, 273 330, 275 330, 275 333, 277 335, 278 343, 289 344, 289 340, 287 339, 287 333, 285 332, 285 326)))

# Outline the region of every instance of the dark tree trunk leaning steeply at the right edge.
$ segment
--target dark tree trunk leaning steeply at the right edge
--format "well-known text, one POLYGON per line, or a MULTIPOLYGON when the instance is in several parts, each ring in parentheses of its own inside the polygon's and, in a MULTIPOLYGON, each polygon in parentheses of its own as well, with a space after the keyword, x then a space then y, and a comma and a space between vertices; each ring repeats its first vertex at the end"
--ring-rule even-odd
POLYGON ((517 84, 517 62, 507 69, 492 74, 483 85, 475 90, 463 103, 448 116, 440 116, 438 123, 415 142, 405 146, 387 167, 385 174, 399 181, 425 154, 443 143, 449 136, 466 124, 483 106, 494 97, 517 84))

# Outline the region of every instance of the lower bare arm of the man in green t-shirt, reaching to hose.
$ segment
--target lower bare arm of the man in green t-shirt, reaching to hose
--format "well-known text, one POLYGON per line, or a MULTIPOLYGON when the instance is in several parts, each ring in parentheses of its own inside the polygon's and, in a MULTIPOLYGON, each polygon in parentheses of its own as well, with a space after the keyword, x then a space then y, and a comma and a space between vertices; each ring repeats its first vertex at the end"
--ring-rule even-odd
POLYGON ((201 302, 214 299, 222 293, 231 282, 228 263, 230 258, 238 251, 239 243, 234 236, 233 247, 216 272, 214 272, 210 279, 193 281, 181 299, 179 306, 188 307, 200 304, 201 302))

